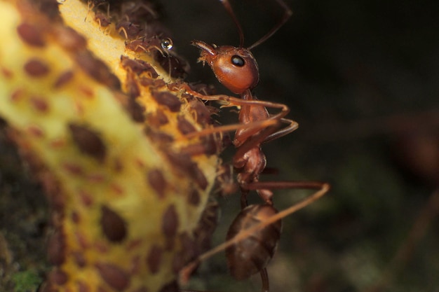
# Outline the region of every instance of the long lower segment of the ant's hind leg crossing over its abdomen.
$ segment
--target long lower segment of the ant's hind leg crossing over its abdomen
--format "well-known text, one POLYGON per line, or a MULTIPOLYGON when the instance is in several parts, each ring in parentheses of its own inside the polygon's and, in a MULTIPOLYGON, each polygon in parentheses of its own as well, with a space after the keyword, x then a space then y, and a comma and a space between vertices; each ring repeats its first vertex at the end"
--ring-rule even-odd
POLYGON ((227 242, 219 244, 219 246, 215 247, 214 249, 211 249, 210 251, 203 253, 201 256, 198 256, 198 258, 196 258, 194 261, 192 261, 191 263, 183 267, 182 270, 180 270, 179 273, 180 281, 182 283, 187 283, 191 272, 203 260, 206 260, 211 256, 214 256, 215 254, 219 253, 220 251, 224 251, 224 249, 227 249, 229 246, 232 246, 238 242, 241 242, 243 239, 252 236, 253 234, 255 234, 255 232, 257 232, 257 230, 262 230, 266 226, 281 220, 285 216, 288 216, 290 214, 295 213, 296 211, 299 211, 300 209, 303 209, 304 207, 308 206, 312 202, 318 200, 320 197, 323 197, 323 195, 325 195, 329 189, 330 189, 329 184, 323 183, 321 185, 320 190, 318 190, 316 193, 313 193, 313 195, 306 197, 304 200, 297 202, 296 204, 292 205, 287 209, 284 209, 283 211, 278 212, 277 214, 267 218, 265 221, 253 226, 252 228, 248 228, 246 230, 238 232, 238 234, 235 235, 235 237, 229 239, 227 242))

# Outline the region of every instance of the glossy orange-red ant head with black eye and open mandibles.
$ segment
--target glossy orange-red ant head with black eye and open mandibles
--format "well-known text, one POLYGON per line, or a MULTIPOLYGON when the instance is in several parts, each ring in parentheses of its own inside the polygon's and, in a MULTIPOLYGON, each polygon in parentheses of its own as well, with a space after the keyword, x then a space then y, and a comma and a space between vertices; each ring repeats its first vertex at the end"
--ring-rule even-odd
POLYGON ((201 48, 198 61, 207 62, 218 81, 231 92, 239 95, 257 85, 259 69, 250 50, 233 46, 209 46, 203 41, 192 41, 191 44, 201 48))

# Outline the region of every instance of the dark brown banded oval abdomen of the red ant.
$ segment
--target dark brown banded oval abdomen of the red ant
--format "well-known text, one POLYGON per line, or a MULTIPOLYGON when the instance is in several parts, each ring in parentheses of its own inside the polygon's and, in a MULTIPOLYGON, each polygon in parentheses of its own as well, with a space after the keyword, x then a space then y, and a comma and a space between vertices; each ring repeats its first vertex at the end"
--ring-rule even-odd
MULTIPOLYGON (((227 240, 266 221, 278 211, 270 204, 252 204, 236 216, 227 232, 227 240)), ((247 279, 260 272, 273 258, 281 237, 282 221, 276 221, 253 232, 240 242, 226 249, 229 270, 236 279, 247 279)))

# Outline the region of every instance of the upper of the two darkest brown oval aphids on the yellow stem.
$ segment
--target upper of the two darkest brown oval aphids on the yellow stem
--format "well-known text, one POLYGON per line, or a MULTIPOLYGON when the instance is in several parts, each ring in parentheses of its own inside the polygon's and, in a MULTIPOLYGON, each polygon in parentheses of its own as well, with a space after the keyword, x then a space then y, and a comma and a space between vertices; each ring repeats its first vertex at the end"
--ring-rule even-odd
POLYGON ((69 130, 72 139, 79 150, 86 155, 95 158, 97 162, 104 162, 107 155, 107 147, 102 141, 99 133, 91 130, 85 125, 69 123, 69 130))

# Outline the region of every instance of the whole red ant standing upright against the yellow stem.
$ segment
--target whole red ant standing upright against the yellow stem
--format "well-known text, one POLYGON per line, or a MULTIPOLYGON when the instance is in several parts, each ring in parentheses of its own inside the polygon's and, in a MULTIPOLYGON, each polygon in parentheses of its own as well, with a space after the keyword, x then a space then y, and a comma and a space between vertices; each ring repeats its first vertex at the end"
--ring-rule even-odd
POLYGON ((238 29, 240 44, 234 46, 208 45, 203 41, 192 41, 191 44, 201 49, 198 61, 208 63, 218 81, 226 88, 239 95, 240 98, 227 95, 203 96, 190 90, 191 95, 203 100, 215 100, 223 106, 240 108, 236 125, 225 125, 210 128, 201 132, 187 134, 187 138, 200 137, 215 132, 236 130, 233 144, 236 153, 232 165, 237 173, 237 181, 241 189, 241 212, 238 214, 227 233, 227 241, 220 244, 189 263, 180 271, 180 279, 187 281, 189 274, 198 263, 213 254, 225 249, 231 274, 238 280, 247 279, 259 272, 262 279, 262 291, 269 291, 269 278, 266 265, 273 257, 281 235, 281 218, 302 209, 319 197, 325 195, 330 186, 316 181, 259 181, 264 173, 266 157, 262 152, 262 144, 278 139, 297 129, 298 124, 285 118, 290 109, 285 104, 259 100, 252 94, 252 89, 259 82, 259 69, 255 57, 250 50, 269 39, 280 29, 292 15, 292 11, 283 0, 276 0, 283 8, 281 20, 261 39, 248 48, 244 48, 244 35, 229 0, 222 2, 238 29), (278 109, 279 113, 270 115, 269 109, 278 109), (282 125, 286 125, 283 126, 282 125), (273 207, 273 190, 285 188, 316 189, 316 193, 297 204, 278 212, 273 207), (264 204, 248 205, 247 196, 250 190, 256 190, 264 204))

